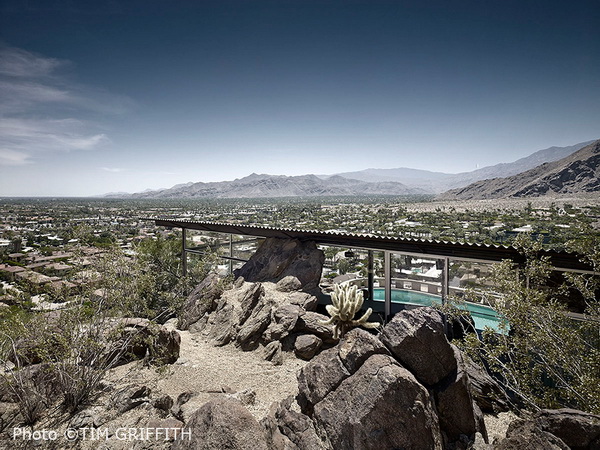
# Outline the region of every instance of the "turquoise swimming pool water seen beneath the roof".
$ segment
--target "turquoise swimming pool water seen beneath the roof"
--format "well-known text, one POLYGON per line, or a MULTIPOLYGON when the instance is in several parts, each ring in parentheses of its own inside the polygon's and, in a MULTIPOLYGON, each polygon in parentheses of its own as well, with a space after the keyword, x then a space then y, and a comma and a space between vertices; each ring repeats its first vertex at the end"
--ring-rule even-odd
MULTIPOLYGON (((373 300, 383 302, 385 300, 385 289, 373 289, 373 300)), ((438 295, 426 294, 425 292, 408 291, 404 289, 392 289, 392 303, 401 303, 404 305, 431 306, 433 304, 442 304, 442 298, 438 295)), ((483 330, 490 327, 499 330, 500 318, 496 311, 489 306, 479 305, 477 303, 464 303, 466 309, 471 313, 475 328, 483 330)), ((462 305, 459 305, 461 307, 462 305)))

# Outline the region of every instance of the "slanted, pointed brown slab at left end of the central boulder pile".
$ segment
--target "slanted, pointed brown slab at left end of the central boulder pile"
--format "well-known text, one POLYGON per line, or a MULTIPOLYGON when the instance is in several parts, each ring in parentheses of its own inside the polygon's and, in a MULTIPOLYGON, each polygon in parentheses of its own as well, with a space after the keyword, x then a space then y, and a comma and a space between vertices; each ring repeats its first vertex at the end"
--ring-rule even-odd
POLYGON ((209 273, 186 299, 179 312, 177 328, 187 330, 204 314, 213 311, 222 292, 219 276, 214 272, 209 273))

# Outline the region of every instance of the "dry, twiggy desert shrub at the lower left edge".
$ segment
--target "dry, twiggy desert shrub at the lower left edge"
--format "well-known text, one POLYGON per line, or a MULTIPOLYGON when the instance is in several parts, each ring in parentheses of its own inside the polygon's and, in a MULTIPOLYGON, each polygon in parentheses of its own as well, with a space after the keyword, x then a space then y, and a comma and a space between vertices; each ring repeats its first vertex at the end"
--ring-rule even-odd
POLYGON ((34 423, 57 401, 75 411, 97 392, 128 346, 106 311, 75 307, 48 316, 15 318, 3 327, 0 358, 14 364, 2 391, 34 423))

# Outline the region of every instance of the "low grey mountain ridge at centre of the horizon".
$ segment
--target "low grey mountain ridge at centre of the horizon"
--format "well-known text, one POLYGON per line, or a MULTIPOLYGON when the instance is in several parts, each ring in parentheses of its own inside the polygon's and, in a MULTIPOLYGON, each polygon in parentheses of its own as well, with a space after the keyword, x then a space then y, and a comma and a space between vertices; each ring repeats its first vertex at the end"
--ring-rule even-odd
POLYGON ((411 195, 420 189, 397 182, 369 183, 333 176, 321 179, 315 175, 288 177, 253 173, 233 181, 186 183, 170 189, 132 194, 130 198, 268 198, 318 197, 337 195, 411 195))

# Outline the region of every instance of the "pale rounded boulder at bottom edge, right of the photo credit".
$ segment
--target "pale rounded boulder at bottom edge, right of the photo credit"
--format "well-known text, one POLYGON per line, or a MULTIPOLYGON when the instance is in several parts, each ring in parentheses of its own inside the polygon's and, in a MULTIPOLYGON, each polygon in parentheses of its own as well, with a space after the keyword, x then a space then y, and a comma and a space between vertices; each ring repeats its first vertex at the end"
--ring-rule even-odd
POLYGON ((205 403, 192 414, 173 450, 267 450, 264 429, 238 401, 217 398, 205 403))

